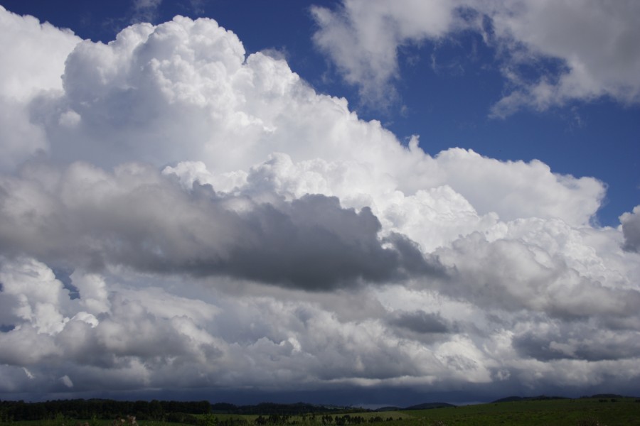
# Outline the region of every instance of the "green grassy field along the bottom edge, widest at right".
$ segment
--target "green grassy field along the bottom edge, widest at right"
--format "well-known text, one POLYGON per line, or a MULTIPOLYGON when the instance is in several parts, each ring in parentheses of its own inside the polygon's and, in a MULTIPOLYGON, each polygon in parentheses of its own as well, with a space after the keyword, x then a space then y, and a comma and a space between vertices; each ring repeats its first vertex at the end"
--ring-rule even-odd
MULTIPOLYGON (((338 426, 338 425, 388 425, 388 426, 640 426, 640 401, 635 398, 598 400, 592 398, 562 400, 528 400, 511 403, 466 405, 455 408, 432 410, 389 411, 366 413, 328 413, 323 415, 287 416, 278 422, 263 423, 267 426, 338 426), (348 415, 348 420, 338 419, 348 415), (356 423, 356 418, 359 418, 356 423), (378 417, 378 418, 376 418, 378 417), (380 419, 382 421, 380 421, 380 419)), ((254 426, 260 423, 257 415, 198 415, 202 425, 228 425, 235 420, 237 425, 254 426), (208 421, 207 421, 208 420, 208 421)), ((263 416, 262 421, 269 419, 263 416)), ((274 420, 274 417, 271 418, 274 420)), ((90 426, 112 425, 112 420, 86 420, 90 426)), ((33 422, 0 422, 12 426, 75 426, 84 425, 85 420, 56 418, 33 422)), ((126 425, 124 423, 123 425, 126 425)), ((178 426, 183 423, 139 421, 140 426, 178 426)))

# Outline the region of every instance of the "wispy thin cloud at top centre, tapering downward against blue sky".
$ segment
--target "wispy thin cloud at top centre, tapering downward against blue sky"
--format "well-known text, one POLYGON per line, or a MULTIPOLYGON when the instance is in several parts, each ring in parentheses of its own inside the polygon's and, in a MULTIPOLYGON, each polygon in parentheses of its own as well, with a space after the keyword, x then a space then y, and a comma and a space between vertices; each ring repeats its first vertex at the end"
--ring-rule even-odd
POLYGON ((383 102, 398 80, 398 48, 434 39, 452 30, 457 2, 406 0, 344 1, 336 10, 312 6, 319 26, 314 43, 329 55, 361 97, 383 102))

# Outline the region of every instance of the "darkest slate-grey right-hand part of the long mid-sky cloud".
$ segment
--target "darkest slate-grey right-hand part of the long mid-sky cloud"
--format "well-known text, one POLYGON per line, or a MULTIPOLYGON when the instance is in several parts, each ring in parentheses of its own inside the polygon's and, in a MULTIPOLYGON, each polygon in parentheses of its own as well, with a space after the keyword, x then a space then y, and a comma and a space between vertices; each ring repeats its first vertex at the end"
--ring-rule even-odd
POLYGON ((380 241, 380 222, 368 207, 342 209, 335 197, 306 195, 279 208, 261 204, 242 215, 238 227, 251 242, 234 245, 222 262, 206 260, 203 272, 321 290, 436 270, 402 236, 380 241))

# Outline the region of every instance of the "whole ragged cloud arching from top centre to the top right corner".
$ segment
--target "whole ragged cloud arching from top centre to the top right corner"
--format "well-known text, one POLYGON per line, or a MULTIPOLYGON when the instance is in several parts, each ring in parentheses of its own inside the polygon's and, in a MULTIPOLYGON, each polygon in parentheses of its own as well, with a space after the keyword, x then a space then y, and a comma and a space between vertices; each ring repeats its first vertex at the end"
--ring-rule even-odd
POLYGON ((640 100, 640 50, 633 1, 343 1, 312 9, 314 41, 349 84, 374 104, 399 80, 398 51, 474 31, 496 51, 507 94, 490 114, 543 111, 573 100, 640 100), (577 36, 580 34, 580 36, 577 36), (533 75, 533 77, 531 77, 533 75))

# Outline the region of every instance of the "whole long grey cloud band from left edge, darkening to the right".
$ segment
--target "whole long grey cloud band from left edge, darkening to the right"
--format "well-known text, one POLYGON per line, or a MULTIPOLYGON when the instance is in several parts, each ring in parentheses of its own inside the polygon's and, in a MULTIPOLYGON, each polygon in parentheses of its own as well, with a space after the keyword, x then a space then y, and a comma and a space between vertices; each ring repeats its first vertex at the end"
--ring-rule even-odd
POLYGON ((144 165, 28 168, 0 181, 0 217, 0 253, 95 271, 119 264, 307 290, 442 273, 407 237, 381 238, 368 207, 344 209, 324 195, 257 202, 198 183, 184 190, 144 165), (55 185, 43 180, 52 177, 55 185))

